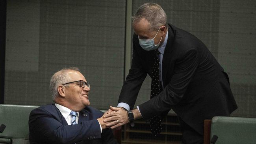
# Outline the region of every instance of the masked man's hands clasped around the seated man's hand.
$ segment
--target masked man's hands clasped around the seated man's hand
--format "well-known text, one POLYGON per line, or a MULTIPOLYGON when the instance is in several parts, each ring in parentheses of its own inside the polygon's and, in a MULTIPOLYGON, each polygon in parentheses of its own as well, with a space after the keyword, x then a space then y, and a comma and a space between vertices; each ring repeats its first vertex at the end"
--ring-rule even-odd
POLYGON ((127 111, 121 107, 112 107, 104 114, 103 122, 111 129, 117 128, 129 122, 127 111))

